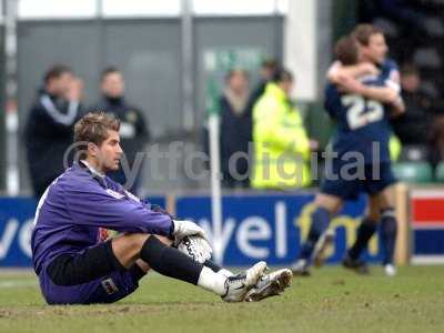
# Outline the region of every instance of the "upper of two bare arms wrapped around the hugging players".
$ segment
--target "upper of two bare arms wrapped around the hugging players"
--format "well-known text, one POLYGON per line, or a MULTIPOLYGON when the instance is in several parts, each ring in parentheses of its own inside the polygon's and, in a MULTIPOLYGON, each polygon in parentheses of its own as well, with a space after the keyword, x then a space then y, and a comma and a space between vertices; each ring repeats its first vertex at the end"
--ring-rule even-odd
POLYGON ((326 72, 326 79, 335 84, 342 84, 347 78, 359 78, 363 75, 377 75, 377 68, 370 62, 362 62, 353 65, 343 65, 335 61, 326 72))

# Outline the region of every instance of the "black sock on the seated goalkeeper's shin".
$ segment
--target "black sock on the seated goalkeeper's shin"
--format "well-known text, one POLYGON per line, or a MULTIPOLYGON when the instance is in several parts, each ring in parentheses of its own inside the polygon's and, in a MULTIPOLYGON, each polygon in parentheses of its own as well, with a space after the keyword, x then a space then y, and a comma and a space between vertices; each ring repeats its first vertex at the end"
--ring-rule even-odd
POLYGON ((163 244, 155 236, 150 236, 144 242, 140 258, 155 272, 192 284, 198 284, 203 269, 202 264, 193 261, 178 249, 163 244))

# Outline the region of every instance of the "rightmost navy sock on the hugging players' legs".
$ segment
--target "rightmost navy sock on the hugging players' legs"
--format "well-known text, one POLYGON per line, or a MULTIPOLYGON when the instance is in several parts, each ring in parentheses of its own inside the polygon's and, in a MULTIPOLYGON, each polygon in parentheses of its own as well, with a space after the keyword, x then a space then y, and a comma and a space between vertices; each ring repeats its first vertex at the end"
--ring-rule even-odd
POLYGON ((392 264, 395 253, 397 224, 393 209, 381 212, 381 243, 383 248, 383 264, 392 264))

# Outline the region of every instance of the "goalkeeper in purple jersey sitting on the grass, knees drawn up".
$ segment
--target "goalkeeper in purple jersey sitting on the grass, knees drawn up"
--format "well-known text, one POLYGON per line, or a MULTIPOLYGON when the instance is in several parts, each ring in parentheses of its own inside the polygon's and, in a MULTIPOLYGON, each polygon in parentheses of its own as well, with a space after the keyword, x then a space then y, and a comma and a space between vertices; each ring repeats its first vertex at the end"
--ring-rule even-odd
POLYGON ((219 268, 210 261, 202 228, 173 220, 105 176, 119 168, 119 127, 105 113, 79 120, 74 145, 80 161, 40 199, 32 260, 49 304, 115 302, 131 294, 150 269, 199 285, 226 302, 258 301, 290 285, 291 271, 265 274, 265 262, 238 275, 219 268), (103 241, 102 228, 121 234, 103 241))

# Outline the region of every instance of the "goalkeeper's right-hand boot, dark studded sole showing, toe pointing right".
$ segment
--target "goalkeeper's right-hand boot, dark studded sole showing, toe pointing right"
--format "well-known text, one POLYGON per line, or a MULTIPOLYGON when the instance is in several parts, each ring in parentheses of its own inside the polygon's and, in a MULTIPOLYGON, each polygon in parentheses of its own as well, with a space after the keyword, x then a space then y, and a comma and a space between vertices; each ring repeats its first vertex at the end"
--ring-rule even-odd
POLYGON ((245 302, 258 302, 266 297, 278 296, 291 285, 292 271, 283 269, 263 275, 258 284, 246 294, 245 302))

